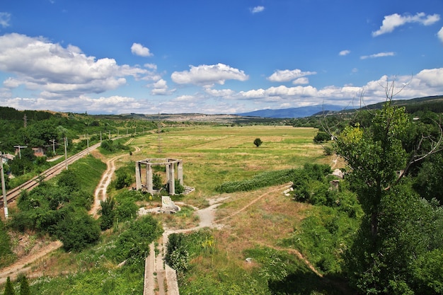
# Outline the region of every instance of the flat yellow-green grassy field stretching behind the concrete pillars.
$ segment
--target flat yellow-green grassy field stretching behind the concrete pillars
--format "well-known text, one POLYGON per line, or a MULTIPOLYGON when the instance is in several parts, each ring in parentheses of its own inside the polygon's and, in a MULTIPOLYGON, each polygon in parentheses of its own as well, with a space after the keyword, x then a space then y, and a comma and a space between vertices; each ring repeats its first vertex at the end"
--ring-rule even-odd
POLYGON ((304 163, 327 163, 323 149, 313 144, 317 130, 284 126, 185 127, 138 137, 135 146, 144 158, 181 158, 185 185, 197 196, 214 195, 225 181, 243 180, 269 170, 299 168, 304 163), (263 144, 256 147, 255 138, 263 144), (159 151, 159 142, 161 154, 159 151))

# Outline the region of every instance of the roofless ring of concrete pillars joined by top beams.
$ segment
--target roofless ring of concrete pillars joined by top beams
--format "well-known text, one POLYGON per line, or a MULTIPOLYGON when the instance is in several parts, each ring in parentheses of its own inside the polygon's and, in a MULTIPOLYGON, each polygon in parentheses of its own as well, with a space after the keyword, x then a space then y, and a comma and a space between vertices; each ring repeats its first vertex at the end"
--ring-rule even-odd
POLYGON ((135 163, 135 180, 137 190, 146 190, 151 195, 154 195, 154 187, 152 185, 152 166, 166 166, 166 182, 169 187, 169 195, 176 195, 176 168, 177 179, 180 185, 183 185, 183 161, 174 158, 146 158, 135 163), (142 178, 142 167, 146 167, 146 173, 142 178), (143 184, 142 180, 145 180, 143 184))

